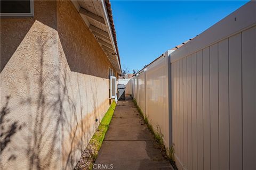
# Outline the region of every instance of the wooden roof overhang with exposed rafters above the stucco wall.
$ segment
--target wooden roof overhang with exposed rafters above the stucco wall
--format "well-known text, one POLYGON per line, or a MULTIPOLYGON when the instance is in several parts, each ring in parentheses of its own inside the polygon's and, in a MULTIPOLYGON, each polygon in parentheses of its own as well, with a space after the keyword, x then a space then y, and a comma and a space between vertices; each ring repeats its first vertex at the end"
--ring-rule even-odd
POLYGON ((71 2, 75 5, 85 24, 97 39, 115 70, 118 73, 122 73, 115 25, 109 0, 71 2))

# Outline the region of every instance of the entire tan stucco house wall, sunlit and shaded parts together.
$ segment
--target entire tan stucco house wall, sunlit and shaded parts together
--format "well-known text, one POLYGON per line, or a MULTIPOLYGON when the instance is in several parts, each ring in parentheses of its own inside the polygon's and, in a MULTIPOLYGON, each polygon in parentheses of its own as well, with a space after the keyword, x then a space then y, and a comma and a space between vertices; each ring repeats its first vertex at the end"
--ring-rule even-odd
POLYGON ((1 169, 72 169, 109 107, 108 66, 70 2, 2 19, 1 169))

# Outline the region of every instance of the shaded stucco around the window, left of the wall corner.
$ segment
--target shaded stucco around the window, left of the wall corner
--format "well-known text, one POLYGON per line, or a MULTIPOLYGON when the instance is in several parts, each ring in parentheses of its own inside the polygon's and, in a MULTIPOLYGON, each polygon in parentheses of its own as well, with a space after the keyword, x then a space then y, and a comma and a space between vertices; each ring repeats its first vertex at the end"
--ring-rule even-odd
POLYGON ((55 1, 34 1, 34 17, 1 18, 1 72, 35 21, 57 29, 55 1))

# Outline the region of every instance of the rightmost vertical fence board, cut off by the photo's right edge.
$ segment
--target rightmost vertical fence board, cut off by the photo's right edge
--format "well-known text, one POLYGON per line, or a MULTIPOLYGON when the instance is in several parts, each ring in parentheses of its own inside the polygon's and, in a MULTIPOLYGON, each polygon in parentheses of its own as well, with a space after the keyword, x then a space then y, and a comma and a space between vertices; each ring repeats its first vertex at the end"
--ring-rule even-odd
POLYGON ((256 28, 242 32, 243 169, 256 169, 256 28), (253 150, 254 148, 254 150, 253 150))

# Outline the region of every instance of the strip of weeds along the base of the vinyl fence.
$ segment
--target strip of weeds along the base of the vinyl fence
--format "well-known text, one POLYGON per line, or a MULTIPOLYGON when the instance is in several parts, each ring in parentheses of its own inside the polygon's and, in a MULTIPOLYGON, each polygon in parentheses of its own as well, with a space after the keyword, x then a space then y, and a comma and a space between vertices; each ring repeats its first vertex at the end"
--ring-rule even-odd
POLYGON ((151 133, 153 133, 154 138, 156 139, 156 141, 159 144, 159 148, 161 148, 163 155, 169 159, 170 163, 172 164, 172 167, 176 170, 178 170, 176 164, 175 164, 175 158, 174 158, 174 147, 171 146, 170 149, 167 149, 164 146, 164 135, 161 132, 161 129, 159 128, 159 126, 157 126, 157 130, 155 131, 153 128, 153 125, 148 121, 148 117, 145 116, 145 114, 143 114, 141 108, 139 107, 139 105, 137 104, 137 100, 134 99, 133 100, 134 105, 137 107, 140 116, 143 118, 144 122, 147 124, 148 129, 150 130, 151 133))

